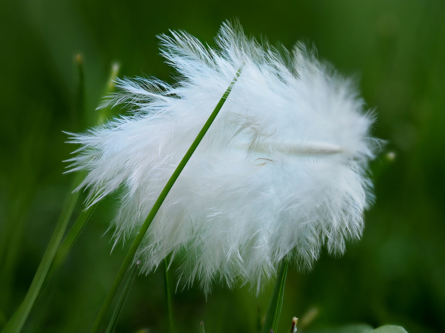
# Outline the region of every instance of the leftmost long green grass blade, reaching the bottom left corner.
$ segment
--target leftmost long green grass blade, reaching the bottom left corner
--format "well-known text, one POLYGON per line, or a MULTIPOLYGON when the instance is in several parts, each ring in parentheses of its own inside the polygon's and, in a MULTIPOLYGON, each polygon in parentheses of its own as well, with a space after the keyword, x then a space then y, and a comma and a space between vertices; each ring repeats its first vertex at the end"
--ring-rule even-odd
MULTIPOLYGON (((73 182, 73 187, 79 184, 81 180, 80 177, 82 176, 83 175, 81 173, 77 173, 73 182)), ((36 275, 32 280, 31 286, 28 289, 28 293, 26 293, 23 302, 20 304, 19 308, 16 310, 12 318, 8 321, 8 323, 2 330, 2 333, 18 333, 22 329, 26 318, 28 317, 28 314, 32 309, 32 305, 34 305, 37 297, 39 296, 40 288, 48 273, 49 267, 53 262, 53 258, 65 233, 66 226, 68 225, 69 218, 73 213, 74 206, 76 205, 78 197, 79 192, 68 194, 59 221, 57 221, 56 229, 54 230, 51 240, 49 241, 42 261, 40 261, 40 265, 37 268, 36 275)))

